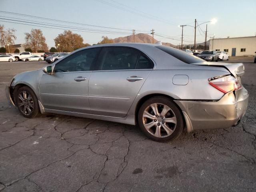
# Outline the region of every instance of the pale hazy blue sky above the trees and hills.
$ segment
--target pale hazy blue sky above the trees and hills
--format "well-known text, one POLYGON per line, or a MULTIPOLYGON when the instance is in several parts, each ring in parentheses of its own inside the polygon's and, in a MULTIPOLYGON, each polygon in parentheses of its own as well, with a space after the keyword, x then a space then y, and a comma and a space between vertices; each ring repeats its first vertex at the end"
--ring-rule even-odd
MULTIPOLYGON (((137 30, 136 33, 139 33, 138 31, 150 33, 150 30, 154 28, 156 34, 175 39, 154 36, 157 40, 172 44, 181 43, 181 28, 178 28, 178 25, 193 26, 195 19, 198 20, 198 24, 212 18, 217 19, 216 24, 208 24, 209 37, 214 34, 216 38, 254 36, 256 32, 256 0, 0 0, 0 11, 128 30, 95 28, 0 12, 0 18, 13 17, 18 20, 33 20, 42 24, 51 23, 51 25, 66 25, 73 28, 94 28, 128 34, 132 34, 129 31, 132 29, 137 30), (108 2, 108 4, 104 2, 108 2)), ((0 20, 0 24, 4 24, 6 28, 17 30, 15 33, 16 44, 24 43, 25 32, 30 32, 32 28, 40 28, 46 37, 48 46, 51 47, 54 46, 54 38, 64 31, 64 28, 60 30, 26 26, 3 22, 3 20, 0 20)), ((200 27, 202 31, 206 30, 206 24, 202 24, 200 27)), ((66 27, 66 29, 68 28, 66 27)), ((103 35, 110 38, 128 35, 73 32, 80 34, 84 38, 84 43, 89 44, 97 43, 103 35)), ((196 42, 203 41, 204 34, 202 32, 200 34, 197 29, 196 42)), ((184 44, 192 43, 194 43, 194 29, 186 26, 184 27, 184 44)))

